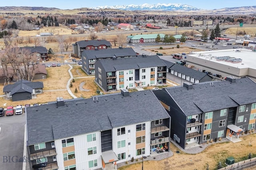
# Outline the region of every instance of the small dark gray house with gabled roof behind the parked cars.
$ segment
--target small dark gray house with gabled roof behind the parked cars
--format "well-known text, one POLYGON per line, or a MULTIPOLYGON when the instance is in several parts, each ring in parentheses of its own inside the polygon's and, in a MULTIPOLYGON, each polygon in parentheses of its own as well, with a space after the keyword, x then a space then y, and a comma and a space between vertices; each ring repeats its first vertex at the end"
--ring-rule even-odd
POLYGON ((14 84, 4 86, 3 92, 12 101, 30 100, 32 95, 42 93, 43 82, 30 82, 28 80, 19 80, 14 84))

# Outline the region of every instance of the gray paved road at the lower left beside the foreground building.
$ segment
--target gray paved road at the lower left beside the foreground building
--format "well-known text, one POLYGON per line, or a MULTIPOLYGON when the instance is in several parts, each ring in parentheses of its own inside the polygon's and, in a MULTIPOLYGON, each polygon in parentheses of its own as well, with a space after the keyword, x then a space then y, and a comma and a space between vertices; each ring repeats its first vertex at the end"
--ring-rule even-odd
POLYGON ((0 169, 21 170, 26 115, 0 117, 0 169))

